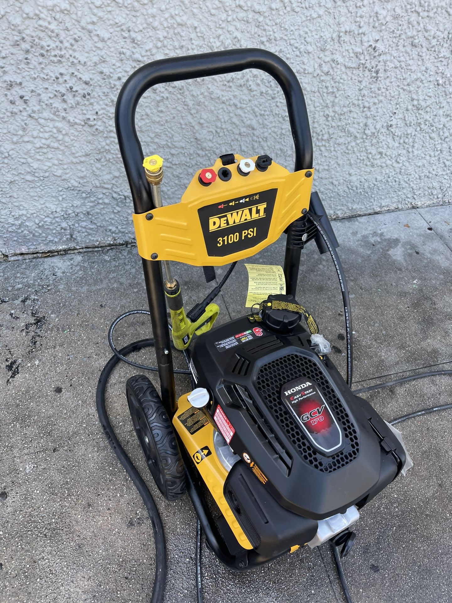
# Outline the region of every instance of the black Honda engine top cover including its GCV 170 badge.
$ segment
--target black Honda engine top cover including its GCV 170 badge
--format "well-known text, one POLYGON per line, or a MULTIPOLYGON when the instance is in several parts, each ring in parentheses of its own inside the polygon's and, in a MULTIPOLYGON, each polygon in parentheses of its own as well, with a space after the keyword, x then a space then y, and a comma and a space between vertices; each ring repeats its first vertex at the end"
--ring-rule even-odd
MULTIPOLYGON (((325 519, 362 507, 405 463, 400 441, 333 362, 313 352, 301 324, 286 332, 248 317, 223 324, 196 339, 190 367, 240 456, 224 485, 228 501, 233 482, 243 490, 240 473, 290 513, 325 519)), ((240 496, 233 498, 239 520, 240 496)))

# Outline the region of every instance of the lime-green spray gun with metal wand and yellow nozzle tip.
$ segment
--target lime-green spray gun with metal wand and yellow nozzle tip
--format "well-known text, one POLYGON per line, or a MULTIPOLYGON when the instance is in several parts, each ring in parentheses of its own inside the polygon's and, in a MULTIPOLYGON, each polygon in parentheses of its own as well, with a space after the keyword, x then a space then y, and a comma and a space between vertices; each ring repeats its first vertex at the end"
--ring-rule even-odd
MULTIPOLYGON (((145 168, 146 180, 151 185, 154 206, 162 207, 162 192, 160 191, 160 183, 163 179, 162 157, 159 157, 159 155, 145 157, 143 168, 145 168)), ((198 304, 189 312, 189 317, 187 317, 180 285, 172 276, 169 261, 163 260, 162 263, 166 274, 164 288, 171 315, 172 341, 177 350, 185 350, 190 344, 193 333, 201 335, 201 333, 206 333, 212 328, 218 316, 219 307, 216 303, 207 303, 206 305, 202 304, 204 307, 199 308, 200 305, 198 304)))

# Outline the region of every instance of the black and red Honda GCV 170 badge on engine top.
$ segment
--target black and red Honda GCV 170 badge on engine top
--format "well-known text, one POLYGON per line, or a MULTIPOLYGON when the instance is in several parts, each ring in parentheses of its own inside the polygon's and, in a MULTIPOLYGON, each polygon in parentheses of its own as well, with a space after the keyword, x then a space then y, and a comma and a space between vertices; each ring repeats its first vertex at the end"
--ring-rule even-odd
POLYGON ((281 388, 281 399, 318 450, 332 452, 342 445, 342 431, 315 381, 289 381, 281 388))

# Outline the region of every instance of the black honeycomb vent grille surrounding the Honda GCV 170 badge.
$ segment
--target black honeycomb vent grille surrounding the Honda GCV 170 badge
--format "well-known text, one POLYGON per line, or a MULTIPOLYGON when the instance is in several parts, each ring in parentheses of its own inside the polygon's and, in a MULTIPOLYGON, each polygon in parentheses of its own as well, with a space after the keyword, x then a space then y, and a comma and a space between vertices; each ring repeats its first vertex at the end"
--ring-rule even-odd
POLYGON ((302 458, 315 469, 324 473, 331 473, 336 469, 345 467, 356 458, 359 452, 356 429, 327 377, 312 358, 300 354, 289 354, 268 362, 260 368, 257 374, 256 387, 263 401, 280 422, 287 436, 292 440, 293 446, 298 449, 302 458), (331 457, 322 455, 309 444, 302 429, 292 419, 289 410, 280 398, 281 387, 292 379, 301 376, 317 382, 331 411, 336 415, 337 421, 344 431, 345 446, 340 452, 331 457))

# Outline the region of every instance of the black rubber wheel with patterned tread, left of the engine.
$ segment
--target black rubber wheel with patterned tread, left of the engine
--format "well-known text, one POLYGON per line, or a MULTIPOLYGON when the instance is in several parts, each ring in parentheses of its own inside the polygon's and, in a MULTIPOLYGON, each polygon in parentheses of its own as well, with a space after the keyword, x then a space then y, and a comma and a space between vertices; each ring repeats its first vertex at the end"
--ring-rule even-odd
POLYGON ((186 490, 184 464, 162 400, 144 375, 130 377, 126 393, 133 426, 155 484, 167 500, 177 500, 186 490))

